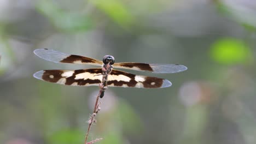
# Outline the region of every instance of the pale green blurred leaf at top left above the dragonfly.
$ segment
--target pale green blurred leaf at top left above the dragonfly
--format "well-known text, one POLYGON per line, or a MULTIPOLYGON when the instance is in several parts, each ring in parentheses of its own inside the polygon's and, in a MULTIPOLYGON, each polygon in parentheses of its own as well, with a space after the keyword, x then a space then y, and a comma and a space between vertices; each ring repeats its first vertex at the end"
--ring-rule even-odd
POLYGON ((86 31, 92 27, 91 20, 85 14, 79 12, 68 13, 49 0, 39 1, 37 9, 61 31, 79 32, 86 31))

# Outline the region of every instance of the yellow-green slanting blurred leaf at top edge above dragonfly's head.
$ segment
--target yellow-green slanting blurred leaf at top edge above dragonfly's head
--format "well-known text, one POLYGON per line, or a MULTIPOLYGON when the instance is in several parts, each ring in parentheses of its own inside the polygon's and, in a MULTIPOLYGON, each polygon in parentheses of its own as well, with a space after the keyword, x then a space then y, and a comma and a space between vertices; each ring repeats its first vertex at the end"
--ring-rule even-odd
POLYGON ((133 22, 133 17, 130 11, 125 7, 120 0, 99 0, 90 1, 99 9, 103 10, 111 19, 117 22, 120 26, 129 27, 133 22))

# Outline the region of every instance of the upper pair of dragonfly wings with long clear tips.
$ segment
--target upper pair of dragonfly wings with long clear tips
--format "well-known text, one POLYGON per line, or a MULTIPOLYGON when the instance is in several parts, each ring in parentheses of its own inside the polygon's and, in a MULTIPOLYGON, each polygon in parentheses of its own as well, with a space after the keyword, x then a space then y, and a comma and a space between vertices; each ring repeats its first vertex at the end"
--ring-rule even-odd
MULTIPOLYGON (((72 64, 90 64, 101 66, 102 61, 94 58, 83 57, 78 55, 69 55, 56 50, 37 49, 34 53, 45 59, 55 63, 72 63, 72 64)), ((139 71, 151 71, 152 73, 178 73, 187 70, 187 67, 180 64, 148 64, 148 63, 114 63, 113 68, 131 69, 139 71)))

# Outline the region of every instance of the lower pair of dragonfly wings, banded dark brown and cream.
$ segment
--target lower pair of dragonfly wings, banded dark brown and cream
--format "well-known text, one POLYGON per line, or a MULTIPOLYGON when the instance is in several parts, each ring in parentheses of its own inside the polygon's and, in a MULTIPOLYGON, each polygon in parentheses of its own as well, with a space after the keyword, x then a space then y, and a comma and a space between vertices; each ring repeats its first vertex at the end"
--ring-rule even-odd
MULTIPOLYGON (((42 70, 34 74, 40 80, 72 86, 98 86, 102 80, 102 69, 42 70)), ((108 75, 110 87, 163 88, 172 83, 158 77, 141 76, 112 70, 108 75)))

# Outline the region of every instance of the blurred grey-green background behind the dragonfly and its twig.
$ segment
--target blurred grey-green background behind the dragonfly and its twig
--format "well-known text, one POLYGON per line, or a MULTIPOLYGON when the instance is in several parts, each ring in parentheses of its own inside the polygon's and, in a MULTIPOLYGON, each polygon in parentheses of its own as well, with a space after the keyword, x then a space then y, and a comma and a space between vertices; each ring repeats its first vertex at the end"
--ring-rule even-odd
POLYGON ((46 48, 188 67, 177 74, 132 71, 168 79, 172 87, 107 89, 89 140, 253 144, 255 29, 252 0, 0 0, 0 143, 84 143, 98 87, 32 75, 90 66, 33 54, 46 48))

